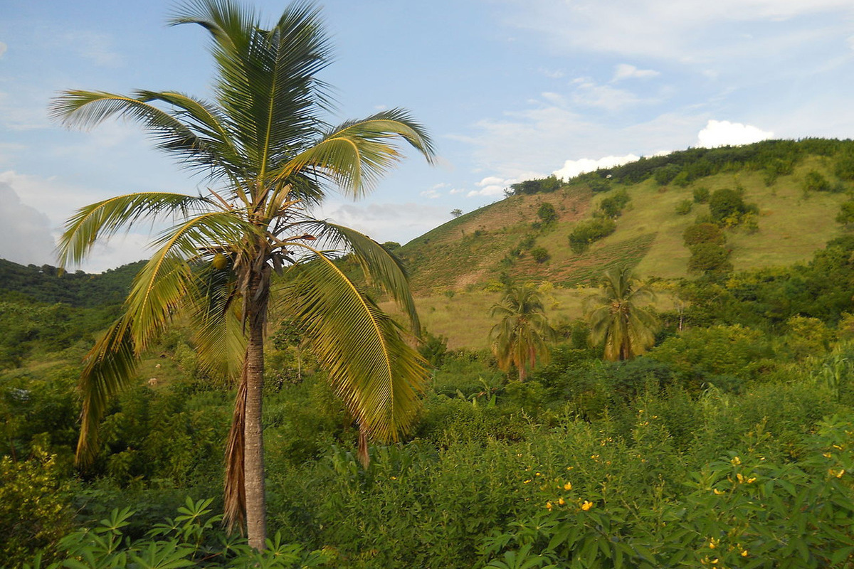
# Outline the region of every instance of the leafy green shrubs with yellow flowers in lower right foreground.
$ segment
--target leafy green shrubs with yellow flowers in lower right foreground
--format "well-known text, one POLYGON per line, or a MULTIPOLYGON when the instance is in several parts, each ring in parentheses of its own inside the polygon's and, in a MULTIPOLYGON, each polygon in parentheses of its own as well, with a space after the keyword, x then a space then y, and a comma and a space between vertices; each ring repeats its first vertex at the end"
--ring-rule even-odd
POLYGON ((850 421, 823 421, 798 463, 755 449, 711 462, 677 500, 660 488, 639 503, 609 495, 605 482, 583 497, 553 485, 545 508, 487 540, 488 567, 850 566, 850 421))

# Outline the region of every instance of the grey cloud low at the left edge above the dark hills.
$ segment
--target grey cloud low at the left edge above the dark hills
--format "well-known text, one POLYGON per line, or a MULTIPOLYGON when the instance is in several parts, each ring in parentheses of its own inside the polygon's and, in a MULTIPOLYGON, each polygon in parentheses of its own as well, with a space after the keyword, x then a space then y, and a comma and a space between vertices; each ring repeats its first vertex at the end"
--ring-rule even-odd
POLYGON ((8 183, 0 182, 0 258, 20 264, 56 264, 50 219, 26 206, 8 183))

